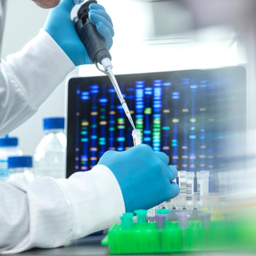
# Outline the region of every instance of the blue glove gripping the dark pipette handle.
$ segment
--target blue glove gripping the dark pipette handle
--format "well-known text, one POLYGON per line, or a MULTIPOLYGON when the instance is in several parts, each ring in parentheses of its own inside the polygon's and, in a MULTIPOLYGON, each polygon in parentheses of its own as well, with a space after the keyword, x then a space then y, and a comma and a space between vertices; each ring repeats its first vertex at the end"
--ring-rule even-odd
MULTIPOLYGON (((92 64, 70 17, 74 6, 73 0, 61 0, 60 4, 50 11, 44 24, 44 30, 50 34, 76 66, 92 64)), ((89 9, 89 20, 96 25, 98 32, 105 38, 107 47, 110 49, 114 36, 110 16, 99 4, 90 4, 89 9)))

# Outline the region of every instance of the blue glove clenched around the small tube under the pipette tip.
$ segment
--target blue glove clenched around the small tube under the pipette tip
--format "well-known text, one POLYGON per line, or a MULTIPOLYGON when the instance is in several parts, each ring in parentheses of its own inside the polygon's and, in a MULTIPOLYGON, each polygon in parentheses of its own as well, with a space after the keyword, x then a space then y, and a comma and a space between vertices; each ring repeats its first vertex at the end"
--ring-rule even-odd
POLYGON ((177 183, 171 182, 177 177, 177 169, 168 163, 165 153, 154 152, 145 144, 122 152, 107 151, 98 162, 116 177, 126 212, 150 209, 180 193, 177 183))

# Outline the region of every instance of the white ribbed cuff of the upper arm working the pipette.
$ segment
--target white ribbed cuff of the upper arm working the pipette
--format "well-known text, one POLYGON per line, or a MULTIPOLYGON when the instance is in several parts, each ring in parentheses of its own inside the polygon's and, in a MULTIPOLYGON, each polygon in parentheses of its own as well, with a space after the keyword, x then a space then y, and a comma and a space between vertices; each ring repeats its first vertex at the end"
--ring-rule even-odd
POLYGON ((40 30, 20 52, 8 55, 6 59, 12 79, 34 111, 37 111, 66 75, 75 69, 68 55, 44 30, 40 30))

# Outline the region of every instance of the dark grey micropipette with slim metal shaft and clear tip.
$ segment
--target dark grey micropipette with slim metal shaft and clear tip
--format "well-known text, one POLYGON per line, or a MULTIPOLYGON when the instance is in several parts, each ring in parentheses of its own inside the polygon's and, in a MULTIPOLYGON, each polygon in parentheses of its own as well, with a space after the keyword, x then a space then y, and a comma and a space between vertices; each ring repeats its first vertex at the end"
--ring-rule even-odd
MULTIPOLYGON (((74 2, 81 5, 82 0, 74 0, 74 2)), ((97 1, 89 0, 81 5, 78 10, 78 16, 73 19, 75 29, 79 38, 81 39, 81 42, 84 44, 91 61, 96 65, 98 70, 110 78, 123 110, 126 113, 126 116, 128 117, 133 129, 135 129, 127 103, 124 100, 117 80, 112 72, 112 58, 110 52, 108 51, 106 42, 98 33, 96 26, 92 25, 89 20, 89 5, 93 3, 97 4, 97 1), (98 63, 103 66, 104 70, 99 68, 98 63)))

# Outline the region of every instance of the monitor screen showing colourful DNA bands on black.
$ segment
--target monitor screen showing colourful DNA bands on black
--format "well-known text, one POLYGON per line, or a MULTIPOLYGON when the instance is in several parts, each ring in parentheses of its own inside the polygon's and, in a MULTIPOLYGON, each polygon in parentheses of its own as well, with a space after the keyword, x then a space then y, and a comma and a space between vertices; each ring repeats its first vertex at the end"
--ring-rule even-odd
MULTIPOLYGON (((246 154, 243 67, 116 78, 142 143, 166 153, 179 171, 210 171, 210 191, 214 172, 246 154)), ((67 136, 67 176, 90 170, 107 150, 133 146, 132 127, 107 76, 69 80, 67 136)))

